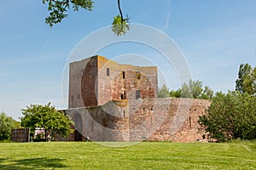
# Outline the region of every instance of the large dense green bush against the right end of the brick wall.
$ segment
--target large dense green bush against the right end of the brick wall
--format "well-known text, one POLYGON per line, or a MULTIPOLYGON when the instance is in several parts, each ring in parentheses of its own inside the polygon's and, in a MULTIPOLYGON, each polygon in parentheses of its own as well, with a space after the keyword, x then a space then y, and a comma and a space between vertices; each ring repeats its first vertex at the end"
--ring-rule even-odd
POLYGON ((256 139, 256 97, 238 91, 217 93, 199 123, 209 139, 256 139))

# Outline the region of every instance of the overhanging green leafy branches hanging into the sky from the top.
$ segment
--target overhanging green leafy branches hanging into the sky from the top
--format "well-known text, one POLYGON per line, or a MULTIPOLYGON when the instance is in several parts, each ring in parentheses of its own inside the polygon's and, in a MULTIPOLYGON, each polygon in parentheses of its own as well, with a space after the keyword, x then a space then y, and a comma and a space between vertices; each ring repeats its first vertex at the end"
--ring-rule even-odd
MULTIPOLYGON (((49 26, 61 23, 67 17, 67 10, 70 9, 70 6, 74 11, 79 11, 79 9, 91 11, 94 7, 92 0, 43 0, 43 3, 48 5, 49 16, 45 18, 45 23, 49 26)), ((119 14, 113 17, 112 30, 116 35, 121 36, 125 35, 126 30, 130 29, 130 18, 128 16, 124 18, 119 0, 118 8, 119 14)))

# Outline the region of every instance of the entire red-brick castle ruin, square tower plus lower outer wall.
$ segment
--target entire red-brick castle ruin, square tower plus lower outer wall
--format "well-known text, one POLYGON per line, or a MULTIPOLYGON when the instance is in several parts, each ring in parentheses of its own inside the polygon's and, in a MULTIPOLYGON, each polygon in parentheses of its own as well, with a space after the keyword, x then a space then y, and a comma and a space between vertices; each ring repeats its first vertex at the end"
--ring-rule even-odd
POLYGON ((73 140, 203 140, 199 116, 210 101, 157 98, 156 66, 121 65, 100 55, 70 64, 73 140))

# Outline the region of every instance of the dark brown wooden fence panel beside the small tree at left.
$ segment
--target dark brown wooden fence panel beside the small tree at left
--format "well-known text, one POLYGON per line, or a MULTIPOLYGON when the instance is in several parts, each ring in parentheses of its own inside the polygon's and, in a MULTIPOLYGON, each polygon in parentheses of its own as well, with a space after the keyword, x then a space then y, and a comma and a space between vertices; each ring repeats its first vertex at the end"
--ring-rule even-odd
POLYGON ((14 128, 12 129, 11 140, 13 142, 29 142, 30 128, 14 128))

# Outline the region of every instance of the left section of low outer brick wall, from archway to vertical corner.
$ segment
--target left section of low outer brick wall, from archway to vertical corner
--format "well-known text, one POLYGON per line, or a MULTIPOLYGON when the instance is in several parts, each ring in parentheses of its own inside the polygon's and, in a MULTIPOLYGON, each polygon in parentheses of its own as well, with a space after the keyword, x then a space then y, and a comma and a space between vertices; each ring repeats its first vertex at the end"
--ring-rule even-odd
POLYGON ((106 105, 65 110, 65 113, 75 122, 76 129, 80 129, 83 139, 129 141, 129 121, 128 116, 125 116, 127 105, 127 100, 110 101, 106 105), (77 115, 81 120, 75 120, 77 115))

